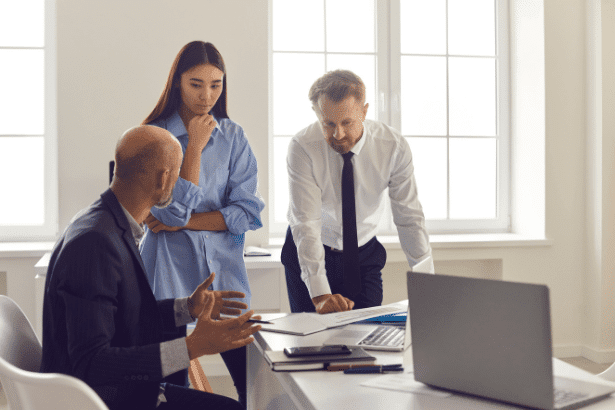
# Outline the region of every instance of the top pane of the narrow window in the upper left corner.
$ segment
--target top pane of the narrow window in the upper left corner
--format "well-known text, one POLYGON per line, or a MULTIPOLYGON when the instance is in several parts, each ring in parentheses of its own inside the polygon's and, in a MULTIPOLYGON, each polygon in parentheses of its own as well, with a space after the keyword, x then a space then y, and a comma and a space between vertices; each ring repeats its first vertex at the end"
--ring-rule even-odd
POLYGON ((0 1, 0 47, 43 47, 44 35, 44 0, 0 1))

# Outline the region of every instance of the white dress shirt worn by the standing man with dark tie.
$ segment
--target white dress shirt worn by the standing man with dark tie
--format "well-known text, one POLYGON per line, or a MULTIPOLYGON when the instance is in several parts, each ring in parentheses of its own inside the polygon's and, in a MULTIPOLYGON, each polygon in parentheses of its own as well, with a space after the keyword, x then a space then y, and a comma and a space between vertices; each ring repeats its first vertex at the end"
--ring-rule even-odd
MULTIPOLYGON (((433 273, 408 142, 393 128, 365 120, 363 135, 351 151, 359 246, 376 235, 389 188, 393 221, 408 263, 414 266, 429 258, 426 271, 433 273)), ((299 131, 288 147, 288 222, 297 246, 301 278, 312 298, 331 293, 323 244, 343 248, 343 163, 342 156, 325 140, 318 122, 299 131)))

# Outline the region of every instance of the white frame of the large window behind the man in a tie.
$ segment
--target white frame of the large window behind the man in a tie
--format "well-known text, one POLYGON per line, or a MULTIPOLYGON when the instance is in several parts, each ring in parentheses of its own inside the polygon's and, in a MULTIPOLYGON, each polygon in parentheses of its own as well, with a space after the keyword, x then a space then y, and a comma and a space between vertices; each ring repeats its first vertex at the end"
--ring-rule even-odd
MULTIPOLYGON (((325 6, 326 7, 326 6, 325 6)), ((376 119, 401 131, 400 86, 401 86, 401 23, 400 1, 376 1, 375 35, 376 35, 376 92, 377 101, 376 119), (396 90, 396 91, 393 91, 396 90)), ((510 6, 509 0, 495 0, 496 21, 496 217, 493 219, 445 219, 426 220, 430 234, 472 234, 472 233, 508 233, 512 231, 511 206, 511 67, 510 67, 510 6)), ((273 13, 273 0, 270 0, 270 12, 273 13)), ((289 136, 273 134, 273 19, 270 19, 270 155, 273 158, 274 141, 276 138, 289 136)), ((325 51, 325 53, 327 53, 325 51)), ((448 54, 446 55, 448 59, 448 54)), ((448 63, 447 63, 448 66, 448 63)), ((448 89, 448 87, 447 87, 448 89)), ((447 103, 448 107, 448 103, 447 103)), ((308 125, 308 124, 304 124, 308 125)), ((298 129, 303 125, 298 125, 298 129)), ((447 127, 448 128, 448 127, 447 127)), ((292 137, 292 136, 291 136, 292 137)), ((438 138, 441 138, 440 136, 438 138)), ((451 140, 446 135, 447 146, 451 140)), ((481 137, 477 137, 481 138, 481 137)), ((488 137, 492 138, 492 137, 488 137)), ((448 155, 448 154, 447 154, 448 155)), ((449 160, 447 159, 447 162, 449 160)), ((272 165, 273 167, 273 165, 272 165)), ((447 171, 447 174, 449 171, 447 171)), ((275 219, 275 171, 270 172, 270 203, 269 207, 269 235, 271 238, 283 237, 287 223, 276 222, 275 219)), ((450 177, 448 178, 450 183, 450 177)), ((420 185, 419 185, 420 194, 420 185)), ((450 190, 447 190, 449 204, 447 212, 450 214, 450 190)), ((388 200, 388 198, 387 198, 388 200)), ((381 224, 383 229, 379 235, 397 235, 390 212, 381 224)))

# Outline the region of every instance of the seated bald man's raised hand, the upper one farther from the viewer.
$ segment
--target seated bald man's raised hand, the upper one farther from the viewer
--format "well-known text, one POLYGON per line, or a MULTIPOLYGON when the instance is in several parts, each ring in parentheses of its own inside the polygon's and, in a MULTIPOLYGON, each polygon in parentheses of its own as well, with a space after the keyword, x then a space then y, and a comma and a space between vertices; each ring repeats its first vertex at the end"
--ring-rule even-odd
POLYGON ((211 319, 219 319, 220 313, 225 315, 238 315, 241 309, 247 309, 248 305, 237 300, 228 300, 230 298, 244 298, 245 293, 234 290, 209 290, 209 286, 214 282, 216 274, 214 272, 209 275, 203 283, 188 297, 188 310, 190 316, 198 318, 205 307, 208 299, 213 299, 213 307, 211 310, 211 319))

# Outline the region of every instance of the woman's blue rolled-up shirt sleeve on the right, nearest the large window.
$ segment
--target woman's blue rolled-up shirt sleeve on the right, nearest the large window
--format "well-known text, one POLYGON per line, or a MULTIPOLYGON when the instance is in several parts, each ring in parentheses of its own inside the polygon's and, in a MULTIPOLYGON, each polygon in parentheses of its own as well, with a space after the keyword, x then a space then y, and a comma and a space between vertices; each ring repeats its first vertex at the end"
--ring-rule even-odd
POLYGON ((254 152, 240 129, 233 145, 226 204, 220 209, 230 233, 240 235, 263 226, 265 202, 258 192, 258 167, 254 152))

